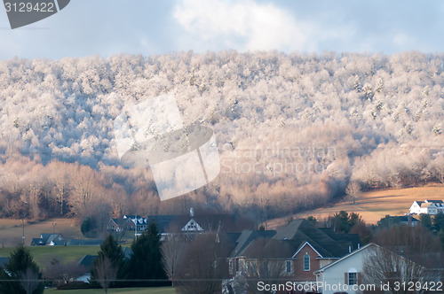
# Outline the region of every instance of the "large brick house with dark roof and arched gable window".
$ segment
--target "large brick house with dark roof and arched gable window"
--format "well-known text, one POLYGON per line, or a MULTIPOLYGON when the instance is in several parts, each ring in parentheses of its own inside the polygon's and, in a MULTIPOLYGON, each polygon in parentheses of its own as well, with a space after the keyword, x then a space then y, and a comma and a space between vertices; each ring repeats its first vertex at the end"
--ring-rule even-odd
POLYGON ((259 279, 274 276, 315 282, 315 271, 359 249, 360 244, 356 234, 336 234, 331 228, 296 220, 278 232, 242 232, 228 259, 229 271, 259 279))

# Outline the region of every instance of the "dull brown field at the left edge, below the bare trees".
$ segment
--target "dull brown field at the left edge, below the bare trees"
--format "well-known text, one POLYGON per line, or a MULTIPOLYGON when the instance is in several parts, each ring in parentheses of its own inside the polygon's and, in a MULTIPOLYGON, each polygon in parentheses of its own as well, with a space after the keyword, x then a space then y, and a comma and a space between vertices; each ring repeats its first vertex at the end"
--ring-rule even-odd
MULTIPOLYGON (((30 245, 32 238, 41 233, 60 233, 66 238, 81 238, 80 225, 75 219, 49 219, 45 221, 25 221, 25 244, 30 245), (56 223, 52 226, 52 223, 56 223)), ((21 242, 22 227, 20 220, 0 219, 0 241, 6 240, 5 246, 15 246, 21 242)), ((1 247, 1 244, 0 244, 1 247)))

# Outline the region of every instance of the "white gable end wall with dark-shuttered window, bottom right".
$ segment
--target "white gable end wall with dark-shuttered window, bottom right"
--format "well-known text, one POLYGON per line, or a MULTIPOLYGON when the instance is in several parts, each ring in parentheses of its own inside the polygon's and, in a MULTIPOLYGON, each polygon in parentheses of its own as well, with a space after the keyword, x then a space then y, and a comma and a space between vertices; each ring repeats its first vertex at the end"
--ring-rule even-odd
POLYGON ((374 246, 377 245, 368 244, 315 271, 318 291, 322 294, 358 293, 364 260, 372 254, 374 246))

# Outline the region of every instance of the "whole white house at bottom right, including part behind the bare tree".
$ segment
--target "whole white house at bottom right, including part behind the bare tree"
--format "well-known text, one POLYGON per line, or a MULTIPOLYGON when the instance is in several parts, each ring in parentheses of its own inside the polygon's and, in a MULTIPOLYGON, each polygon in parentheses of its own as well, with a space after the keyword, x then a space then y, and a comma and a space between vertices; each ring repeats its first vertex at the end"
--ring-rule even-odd
POLYGON ((422 281, 421 284, 436 284, 442 281, 442 261, 442 254, 436 252, 418 253, 408 259, 400 248, 392 251, 377 244, 368 244, 315 271, 317 292, 376 292, 380 290, 377 287, 390 281, 402 283, 416 280, 422 281), (377 262, 372 264, 371 260, 377 262), (369 266, 370 277, 366 276, 366 264, 369 266), (375 274, 372 278, 371 275, 375 274))

